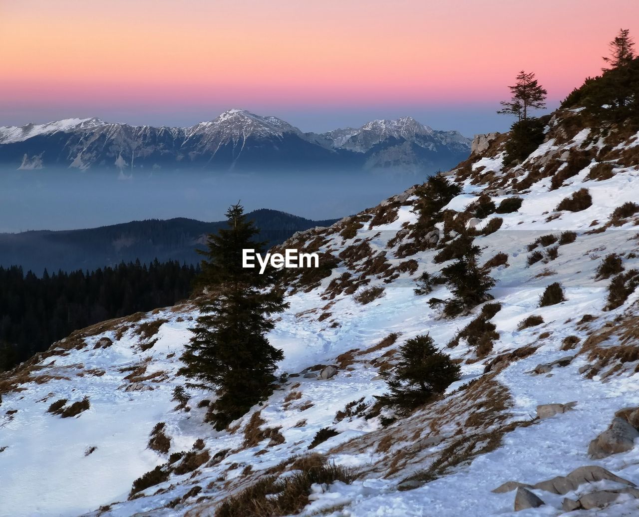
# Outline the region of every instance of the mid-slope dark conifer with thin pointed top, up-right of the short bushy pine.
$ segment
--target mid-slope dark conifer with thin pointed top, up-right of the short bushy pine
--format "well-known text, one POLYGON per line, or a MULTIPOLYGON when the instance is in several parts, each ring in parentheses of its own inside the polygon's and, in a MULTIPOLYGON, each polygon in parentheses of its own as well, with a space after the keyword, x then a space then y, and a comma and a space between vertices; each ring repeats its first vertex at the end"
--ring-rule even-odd
MULTIPOLYGON (((464 236, 459 236, 461 239, 464 236)), ((478 259, 481 249, 472 244, 472 238, 465 237, 468 244, 463 253, 458 254, 454 263, 442 269, 442 277, 449 285, 454 298, 446 300, 443 313, 453 317, 486 302, 492 297, 488 290, 495 286, 495 281, 479 267, 478 259)))

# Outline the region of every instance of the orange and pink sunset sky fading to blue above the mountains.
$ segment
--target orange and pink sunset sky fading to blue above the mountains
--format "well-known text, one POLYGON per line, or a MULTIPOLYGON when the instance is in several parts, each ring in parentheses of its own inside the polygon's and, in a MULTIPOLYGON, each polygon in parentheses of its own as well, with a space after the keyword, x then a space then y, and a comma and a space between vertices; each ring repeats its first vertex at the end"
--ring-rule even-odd
POLYGON ((549 107, 637 0, 0 0, 0 125, 192 125, 231 107, 305 131, 412 115, 466 135, 525 68, 549 107))

